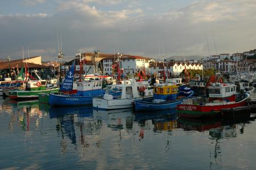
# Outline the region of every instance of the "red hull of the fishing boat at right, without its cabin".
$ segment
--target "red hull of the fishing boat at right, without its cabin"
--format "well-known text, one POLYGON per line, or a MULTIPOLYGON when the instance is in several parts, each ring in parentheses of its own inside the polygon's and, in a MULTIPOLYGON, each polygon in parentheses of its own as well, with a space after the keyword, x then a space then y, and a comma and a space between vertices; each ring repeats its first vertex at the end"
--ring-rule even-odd
POLYGON ((181 117, 213 117, 221 116, 221 109, 236 108, 246 105, 246 101, 249 98, 249 94, 246 94, 245 99, 232 104, 222 105, 193 105, 193 104, 180 104, 177 105, 177 113, 181 117))

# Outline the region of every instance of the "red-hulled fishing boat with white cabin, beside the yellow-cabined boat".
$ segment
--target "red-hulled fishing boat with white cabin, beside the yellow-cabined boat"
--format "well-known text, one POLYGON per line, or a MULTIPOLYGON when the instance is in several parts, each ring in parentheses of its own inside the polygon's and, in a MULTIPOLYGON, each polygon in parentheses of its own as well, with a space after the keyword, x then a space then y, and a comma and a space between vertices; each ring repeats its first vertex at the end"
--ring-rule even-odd
POLYGON ((236 84, 212 83, 208 87, 209 98, 196 97, 177 105, 181 117, 220 116, 221 109, 242 107, 249 98, 249 93, 237 94, 236 84))

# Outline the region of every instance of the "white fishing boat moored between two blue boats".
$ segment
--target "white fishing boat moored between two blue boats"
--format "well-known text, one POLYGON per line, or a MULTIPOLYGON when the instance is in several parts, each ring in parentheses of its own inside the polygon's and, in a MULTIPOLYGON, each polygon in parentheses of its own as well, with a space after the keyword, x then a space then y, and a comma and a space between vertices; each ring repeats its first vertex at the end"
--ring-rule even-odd
POLYGON ((152 97, 152 90, 148 90, 148 86, 150 86, 149 83, 139 86, 139 82, 135 79, 126 80, 123 84, 108 86, 104 96, 93 98, 93 108, 98 110, 133 108, 134 100, 152 97), (121 96, 114 97, 109 94, 112 89, 119 89, 122 92, 121 96))

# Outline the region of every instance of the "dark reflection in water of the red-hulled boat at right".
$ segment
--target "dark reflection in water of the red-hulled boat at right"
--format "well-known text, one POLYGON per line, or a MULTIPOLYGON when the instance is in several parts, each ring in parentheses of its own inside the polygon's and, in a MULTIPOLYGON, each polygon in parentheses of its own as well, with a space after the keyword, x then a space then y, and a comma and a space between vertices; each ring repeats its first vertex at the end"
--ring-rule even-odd
MULTIPOLYGON (((251 117, 249 114, 234 114, 232 117, 222 118, 184 118, 179 117, 177 119, 178 128, 184 131, 209 131, 210 143, 214 145, 213 150, 209 150, 210 158, 214 158, 214 161, 209 165, 212 167, 214 164, 222 164, 221 140, 236 138, 237 134, 243 134, 246 124, 250 124, 250 121, 254 121, 255 117, 251 117)), ((225 143, 225 142, 224 142, 225 143)))

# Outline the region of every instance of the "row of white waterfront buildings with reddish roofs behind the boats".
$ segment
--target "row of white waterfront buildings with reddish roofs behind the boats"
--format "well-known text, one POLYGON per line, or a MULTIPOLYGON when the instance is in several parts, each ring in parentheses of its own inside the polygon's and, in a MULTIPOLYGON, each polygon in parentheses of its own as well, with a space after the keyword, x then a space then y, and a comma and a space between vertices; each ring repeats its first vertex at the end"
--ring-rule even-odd
MULTIPOLYGON (((86 58, 86 65, 84 65, 84 73, 89 70, 88 73, 95 73, 95 63, 93 59, 85 57, 86 54, 82 54, 82 58, 86 58), (88 61, 88 59, 90 59, 88 61), (94 70, 94 71, 93 71, 94 70)), ((76 71, 80 70, 79 61, 80 58, 76 59, 76 71)), ((169 73, 170 75, 178 76, 185 68, 202 70, 203 65, 201 63, 188 63, 188 62, 156 62, 154 59, 142 56, 133 56, 128 54, 101 54, 101 59, 98 60, 97 67, 98 71, 104 75, 113 75, 113 63, 119 61, 119 68, 122 70, 124 76, 134 75, 140 70, 145 70, 147 75, 154 75, 155 73, 159 76, 163 76, 163 73, 169 73), (102 57, 104 56, 104 57, 102 57)), ((72 65, 72 61, 69 61, 63 65, 63 69, 68 69, 72 65)))

